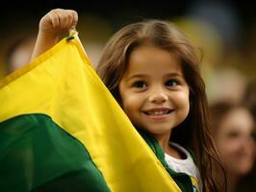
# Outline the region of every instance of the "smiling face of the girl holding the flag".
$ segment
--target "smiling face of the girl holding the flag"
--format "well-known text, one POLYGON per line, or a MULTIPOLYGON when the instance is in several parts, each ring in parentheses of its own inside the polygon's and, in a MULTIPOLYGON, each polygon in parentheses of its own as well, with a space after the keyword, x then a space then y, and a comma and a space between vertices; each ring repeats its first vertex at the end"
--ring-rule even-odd
POLYGON ((155 138, 169 136, 189 113, 190 91, 181 64, 164 49, 141 46, 134 50, 118 89, 132 123, 155 138))

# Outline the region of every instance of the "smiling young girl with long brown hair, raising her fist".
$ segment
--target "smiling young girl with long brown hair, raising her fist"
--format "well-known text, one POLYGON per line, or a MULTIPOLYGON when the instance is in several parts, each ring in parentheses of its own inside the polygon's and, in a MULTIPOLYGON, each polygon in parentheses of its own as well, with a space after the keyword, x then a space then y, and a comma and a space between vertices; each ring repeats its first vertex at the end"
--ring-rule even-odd
MULTIPOLYGON (((77 12, 57 9, 39 22, 32 59, 51 48, 61 32, 75 28, 77 12)), ((128 25, 106 45, 97 72, 144 139, 164 151, 166 170, 190 191, 219 191, 219 166, 208 128, 205 87, 189 40, 170 23, 128 25)))

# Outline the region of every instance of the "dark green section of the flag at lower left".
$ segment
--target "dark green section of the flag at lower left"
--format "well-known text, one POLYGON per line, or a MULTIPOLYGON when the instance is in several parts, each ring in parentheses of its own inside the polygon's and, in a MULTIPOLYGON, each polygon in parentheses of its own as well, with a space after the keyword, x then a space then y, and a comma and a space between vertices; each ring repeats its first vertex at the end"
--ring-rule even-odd
POLYGON ((90 155, 49 116, 0 123, 0 191, 110 191, 90 155))

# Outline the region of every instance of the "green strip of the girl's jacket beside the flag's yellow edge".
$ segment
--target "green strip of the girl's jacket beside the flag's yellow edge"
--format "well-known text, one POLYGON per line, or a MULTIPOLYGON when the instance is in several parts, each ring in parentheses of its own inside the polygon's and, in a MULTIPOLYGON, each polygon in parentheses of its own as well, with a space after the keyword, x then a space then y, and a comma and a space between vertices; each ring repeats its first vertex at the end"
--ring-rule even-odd
POLYGON ((193 192, 192 189, 192 180, 191 177, 184 173, 176 173, 172 169, 170 169, 166 163, 165 154, 158 144, 157 140, 155 140, 152 136, 150 136, 147 132, 143 132, 139 130, 141 136, 144 138, 149 147, 153 150, 158 159, 165 166, 168 174, 171 176, 173 180, 179 185, 180 189, 183 192, 193 192))

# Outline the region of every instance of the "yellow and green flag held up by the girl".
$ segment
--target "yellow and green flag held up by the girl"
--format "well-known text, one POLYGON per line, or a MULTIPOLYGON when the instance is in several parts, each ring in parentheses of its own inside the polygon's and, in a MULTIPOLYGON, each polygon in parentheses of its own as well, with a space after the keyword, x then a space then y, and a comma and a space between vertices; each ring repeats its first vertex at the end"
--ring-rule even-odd
POLYGON ((74 37, 0 82, 0 191, 181 189, 74 37))

